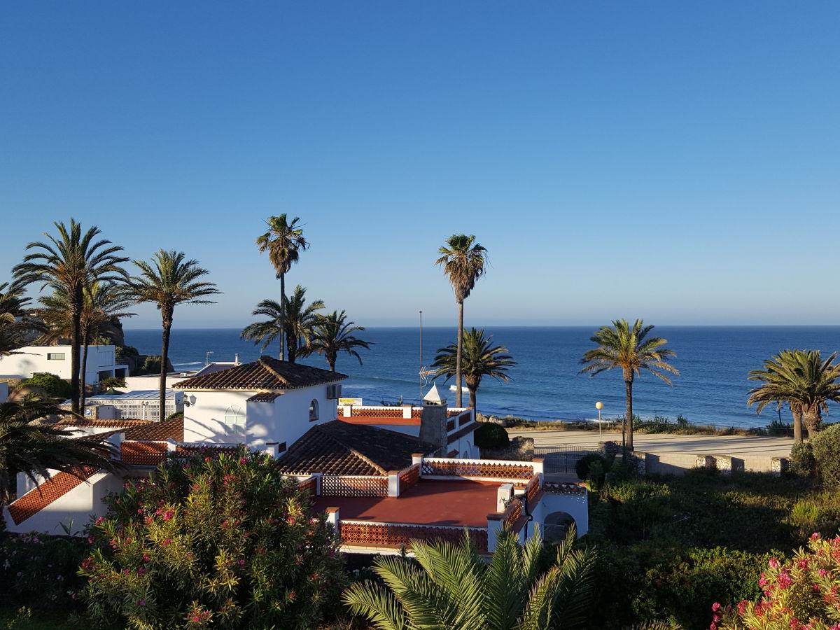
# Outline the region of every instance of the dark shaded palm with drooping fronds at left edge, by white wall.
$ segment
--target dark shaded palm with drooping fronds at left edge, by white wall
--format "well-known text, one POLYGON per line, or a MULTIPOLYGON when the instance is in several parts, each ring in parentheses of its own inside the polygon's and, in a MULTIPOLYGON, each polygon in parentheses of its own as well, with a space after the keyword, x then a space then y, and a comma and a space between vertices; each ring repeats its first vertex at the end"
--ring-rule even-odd
POLYGON ((112 459, 116 449, 102 435, 68 439, 72 431, 42 422, 59 414, 67 412, 35 394, 0 403, 0 504, 14 495, 18 472, 37 485, 40 479, 50 479, 50 470, 78 476, 85 466, 118 468, 112 459))

